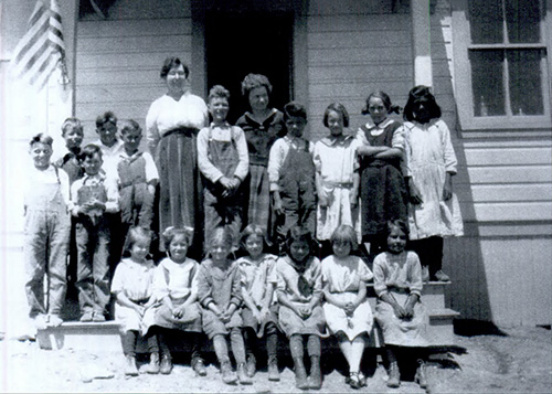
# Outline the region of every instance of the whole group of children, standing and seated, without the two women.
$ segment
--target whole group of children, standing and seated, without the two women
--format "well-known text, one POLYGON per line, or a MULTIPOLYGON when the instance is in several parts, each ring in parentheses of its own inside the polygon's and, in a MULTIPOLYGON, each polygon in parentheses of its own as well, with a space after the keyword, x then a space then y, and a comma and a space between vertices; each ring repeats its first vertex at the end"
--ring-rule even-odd
POLYGON ((244 217, 248 198, 241 184, 248 177, 250 156, 242 128, 226 121, 229 96, 222 86, 211 89, 213 121, 198 135, 198 167, 206 180, 201 264, 187 255, 194 232, 189 227, 161 228, 166 257, 157 264, 150 257, 159 177, 151 155, 140 150, 136 121, 117 123, 106 113, 96 121, 99 140, 81 148, 83 127, 68 118, 62 126, 68 153, 55 164, 50 161, 52 138, 38 135, 31 140, 34 169, 25 193, 31 317, 38 324, 62 323, 65 257, 72 245, 81 321, 105 321, 109 297, 115 296, 126 375, 138 374, 139 337, 150 353, 146 371, 169 374, 167 338, 181 330, 191 338, 191 365, 198 375, 206 374, 200 351, 205 333, 224 383, 252 384, 262 338, 268 380, 278 381, 283 332, 297 387, 318 390, 320 339, 331 334, 349 364, 346 382, 360 388, 367 384, 360 364, 375 317, 385 342, 388 385, 400 385, 400 355, 420 363, 415 380, 425 387, 428 317, 421 299, 423 281, 449 280, 440 269, 443 236, 461 234, 450 180, 456 158, 435 97, 427 87, 413 88, 402 125, 389 118, 396 110, 389 96, 373 93, 363 110, 370 120, 357 135, 344 132, 349 115, 333 103, 323 116, 329 134, 316 143, 302 137, 305 107, 287 104, 287 135, 270 141, 268 149, 275 220, 264 228, 244 217), (112 279, 109 252, 120 239, 126 239, 118 246, 124 254, 112 279), (367 298, 372 279, 378 296, 373 315, 367 298))

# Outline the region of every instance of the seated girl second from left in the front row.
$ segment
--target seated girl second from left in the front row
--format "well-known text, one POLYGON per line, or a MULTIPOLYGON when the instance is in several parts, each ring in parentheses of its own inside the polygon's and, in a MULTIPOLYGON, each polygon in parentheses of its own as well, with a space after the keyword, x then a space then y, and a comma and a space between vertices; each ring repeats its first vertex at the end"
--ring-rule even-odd
POLYGON ((158 340, 161 351, 161 373, 172 371, 170 350, 167 345, 168 331, 184 331, 192 342, 191 365, 200 376, 206 375, 206 369, 200 354, 203 343, 201 332, 201 309, 198 302, 198 269, 200 265, 187 257, 193 239, 193 228, 168 227, 162 234, 167 257, 155 274, 153 292, 161 300, 156 310, 155 324, 159 326, 158 340))

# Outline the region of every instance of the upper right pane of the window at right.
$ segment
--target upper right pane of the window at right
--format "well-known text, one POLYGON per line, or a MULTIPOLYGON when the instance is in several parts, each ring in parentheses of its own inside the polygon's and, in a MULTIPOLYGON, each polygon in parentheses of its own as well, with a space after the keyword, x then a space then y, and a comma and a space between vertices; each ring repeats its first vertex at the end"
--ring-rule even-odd
POLYGON ((506 21, 511 43, 540 42, 539 0, 506 0, 506 21))

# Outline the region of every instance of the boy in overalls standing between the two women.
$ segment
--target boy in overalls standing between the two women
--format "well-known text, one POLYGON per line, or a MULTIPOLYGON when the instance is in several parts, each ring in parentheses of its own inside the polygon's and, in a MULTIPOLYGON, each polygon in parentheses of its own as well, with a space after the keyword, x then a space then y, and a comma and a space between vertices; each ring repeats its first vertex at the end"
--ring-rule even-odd
POLYGON ((209 111, 213 123, 198 135, 198 167, 205 179, 203 206, 205 239, 213 230, 225 226, 237 247, 243 220, 242 182, 247 177, 250 158, 243 130, 230 126, 230 92, 221 85, 209 92, 209 111))

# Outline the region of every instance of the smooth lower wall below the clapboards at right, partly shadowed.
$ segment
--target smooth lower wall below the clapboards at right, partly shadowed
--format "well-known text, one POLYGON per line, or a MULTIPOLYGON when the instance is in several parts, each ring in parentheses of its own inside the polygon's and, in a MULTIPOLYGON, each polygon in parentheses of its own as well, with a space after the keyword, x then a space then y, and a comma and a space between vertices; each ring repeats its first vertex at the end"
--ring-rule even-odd
POLYGON ((552 244, 549 238, 447 239, 450 307, 463 318, 501 327, 550 324, 552 244))

